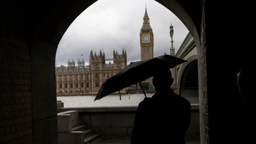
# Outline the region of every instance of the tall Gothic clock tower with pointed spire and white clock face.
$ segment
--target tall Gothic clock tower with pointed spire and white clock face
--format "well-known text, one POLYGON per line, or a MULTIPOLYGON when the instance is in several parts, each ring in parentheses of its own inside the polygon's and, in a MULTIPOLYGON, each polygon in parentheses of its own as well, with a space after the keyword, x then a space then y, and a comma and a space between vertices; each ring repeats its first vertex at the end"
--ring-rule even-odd
MULTIPOLYGON (((140 58, 148 60, 154 58, 154 33, 149 23, 147 6, 143 18, 143 25, 140 29, 140 58)), ((152 78, 145 80, 152 84, 152 78)))

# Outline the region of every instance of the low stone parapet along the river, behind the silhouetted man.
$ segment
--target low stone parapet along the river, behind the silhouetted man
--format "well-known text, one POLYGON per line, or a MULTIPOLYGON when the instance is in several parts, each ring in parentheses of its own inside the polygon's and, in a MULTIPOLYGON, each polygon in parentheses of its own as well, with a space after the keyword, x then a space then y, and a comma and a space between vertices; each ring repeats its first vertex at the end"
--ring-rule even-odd
MULTIPOLYGON (((102 136, 131 136, 138 106, 59 108, 58 112, 77 110, 80 122, 102 136)), ((186 138, 200 136, 199 104, 191 104, 191 122, 186 138)))

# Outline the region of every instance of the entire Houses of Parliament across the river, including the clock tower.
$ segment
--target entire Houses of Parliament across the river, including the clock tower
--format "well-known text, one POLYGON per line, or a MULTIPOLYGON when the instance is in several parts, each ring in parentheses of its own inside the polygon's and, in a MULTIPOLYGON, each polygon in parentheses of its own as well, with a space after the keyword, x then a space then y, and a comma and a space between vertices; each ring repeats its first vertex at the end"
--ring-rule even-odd
MULTIPOLYGON (((141 60, 154 57, 154 34, 150 26, 147 8, 145 10, 143 25, 140 29, 140 54, 141 60)), ((118 73, 127 66, 126 50, 118 53, 113 51, 113 58, 106 58, 104 51, 99 54, 90 52, 89 65, 85 65, 84 59, 78 59, 77 65, 74 59, 68 60, 68 66, 56 67, 56 92, 57 95, 87 95, 97 94, 104 81, 118 73), (105 61, 113 61, 106 64, 105 61)), ((146 80, 152 84, 152 78, 146 80)), ((138 84, 130 86, 120 92, 126 93, 127 89, 137 89, 138 84)))

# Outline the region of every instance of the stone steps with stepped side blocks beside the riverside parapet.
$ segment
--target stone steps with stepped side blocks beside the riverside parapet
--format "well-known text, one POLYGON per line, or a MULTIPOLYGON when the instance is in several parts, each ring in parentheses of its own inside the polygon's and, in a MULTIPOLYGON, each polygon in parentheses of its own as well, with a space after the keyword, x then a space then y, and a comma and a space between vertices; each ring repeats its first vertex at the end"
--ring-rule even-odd
POLYGON ((91 144, 100 134, 80 124, 77 110, 58 113, 58 144, 91 144))

